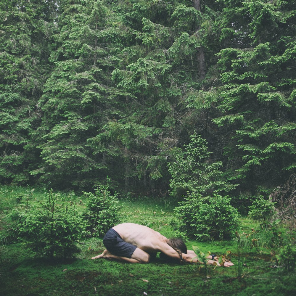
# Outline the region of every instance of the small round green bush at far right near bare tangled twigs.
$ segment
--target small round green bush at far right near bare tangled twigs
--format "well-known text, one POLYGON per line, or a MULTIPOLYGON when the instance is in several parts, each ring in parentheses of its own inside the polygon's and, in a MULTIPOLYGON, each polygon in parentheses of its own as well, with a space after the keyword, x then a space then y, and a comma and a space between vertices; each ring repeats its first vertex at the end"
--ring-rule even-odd
POLYGON ((274 214, 275 202, 265 200, 262 195, 253 200, 249 207, 249 216, 255 220, 267 221, 274 214))

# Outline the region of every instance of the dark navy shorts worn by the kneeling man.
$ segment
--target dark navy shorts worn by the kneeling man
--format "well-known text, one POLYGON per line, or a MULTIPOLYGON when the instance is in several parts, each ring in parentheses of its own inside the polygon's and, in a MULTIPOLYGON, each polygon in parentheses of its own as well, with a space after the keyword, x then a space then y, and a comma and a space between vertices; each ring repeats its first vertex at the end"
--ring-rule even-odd
POLYGON ((113 229, 109 229, 103 238, 103 244, 113 255, 131 258, 136 246, 125 242, 120 235, 113 229))

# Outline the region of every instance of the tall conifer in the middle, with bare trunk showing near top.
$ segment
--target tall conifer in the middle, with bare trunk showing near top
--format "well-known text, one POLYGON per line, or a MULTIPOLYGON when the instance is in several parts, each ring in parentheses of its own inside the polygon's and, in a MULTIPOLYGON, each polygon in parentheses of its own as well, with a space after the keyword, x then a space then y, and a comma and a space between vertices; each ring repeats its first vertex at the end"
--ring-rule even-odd
POLYGON ((202 14, 180 1, 136 1, 132 9, 122 9, 120 25, 133 29, 137 38, 123 49, 112 79, 130 94, 130 110, 97 138, 121 143, 128 180, 135 180, 136 173, 144 187, 165 192, 168 148, 184 137, 183 98, 199 89, 204 78, 202 36, 215 14, 209 7, 202 14))

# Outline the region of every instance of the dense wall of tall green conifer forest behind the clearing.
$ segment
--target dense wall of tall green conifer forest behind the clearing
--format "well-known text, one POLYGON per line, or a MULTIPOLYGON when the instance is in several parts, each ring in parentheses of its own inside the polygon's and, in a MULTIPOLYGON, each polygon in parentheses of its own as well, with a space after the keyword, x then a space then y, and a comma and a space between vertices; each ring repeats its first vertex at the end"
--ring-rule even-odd
POLYGON ((296 173, 295 9, 2 0, 0 183, 268 196, 296 173))

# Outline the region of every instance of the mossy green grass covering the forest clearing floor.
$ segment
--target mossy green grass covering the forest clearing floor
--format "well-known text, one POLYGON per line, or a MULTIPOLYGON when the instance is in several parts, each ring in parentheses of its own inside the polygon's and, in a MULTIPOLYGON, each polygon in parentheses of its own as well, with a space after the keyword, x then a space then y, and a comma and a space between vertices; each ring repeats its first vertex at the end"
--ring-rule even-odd
MULTIPOLYGON (((44 198, 44 190, 2 187, 0 191, 0 231, 7 230, 5 215, 13 207, 22 206, 29 199, 35 203, 44 198), (13 191, 12 191, 13 190, 13 191), (29 190, 29 191, 27 191, 29 190), (18 194, 29 194, 17 202, 18 194)), ((68 196, 83 211, 84 197, 68 196), (81 200, 81 201, 80 201, 81 200)), ((125 202, 122 214, 125 221, 150 225, 166 237, 174 235, 170 221, 173 210, 155 200, 125 202)), ((258 226, 242 218, 242 231, 258 226)), ((3 243, 3 242, 2 242, 3 243)), ((271 256, 259 255, 254 250, 237 248, 236 241, 197 242, 188 240, 189 249, 198 245, 202 252, 225 254, 231 251, 234 266, 229 268, 209 266, 208 275, 195 264, 165 263, 160 258, 146 265, 91 260, 103 251, 102 239, 89 238, 80 242, 81 252, 73 260, 36 258, 33 252, 17 242, 7 242, 0 247, 0 295, 295 295, 295 271, 271 268, 271 256), (238 256, 242 252, 243 255, 238 256), (239 260, 245 263, 241 278, 239 260)))

